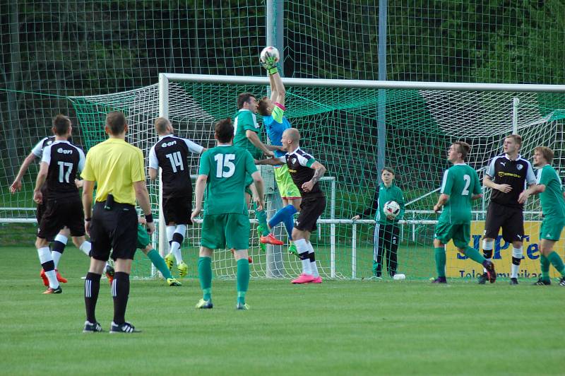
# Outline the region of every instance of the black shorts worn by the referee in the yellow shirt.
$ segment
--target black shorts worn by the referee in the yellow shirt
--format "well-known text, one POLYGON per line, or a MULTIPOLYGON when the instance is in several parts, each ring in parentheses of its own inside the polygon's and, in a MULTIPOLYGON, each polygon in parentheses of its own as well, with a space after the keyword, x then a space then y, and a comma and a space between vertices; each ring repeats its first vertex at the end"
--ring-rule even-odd
POLYGON ((137 245, 137 213, 130 204, 114 202, 112 210, 104 208, 104 202, 94 206, 90 223, 90 255, 97 260, 107 261, 112 249, 112 259, 133 259, 137 245))

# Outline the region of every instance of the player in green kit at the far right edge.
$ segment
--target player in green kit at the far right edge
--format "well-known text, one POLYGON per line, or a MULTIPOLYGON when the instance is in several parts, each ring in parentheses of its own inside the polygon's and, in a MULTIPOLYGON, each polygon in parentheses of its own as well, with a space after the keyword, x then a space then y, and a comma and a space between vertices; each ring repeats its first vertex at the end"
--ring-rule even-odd
POLYGON ((534 149, 534 167, 537 168, 537 185, 526 189, 518 197, 518 202, 524 203, 532 194, 540 194, 543 221, 540 227, 540 264, 542 276, 534 283, 537 286, 551 284, 549 279, 549 264, 552 264, 561 274, 559 286, 565 286, 565 265, 559 254, 553 250, 559 241, 561 231, 565 227, 565 193, 561 187, 559 175, 552 168, 554 153, 547 146, 534 149))

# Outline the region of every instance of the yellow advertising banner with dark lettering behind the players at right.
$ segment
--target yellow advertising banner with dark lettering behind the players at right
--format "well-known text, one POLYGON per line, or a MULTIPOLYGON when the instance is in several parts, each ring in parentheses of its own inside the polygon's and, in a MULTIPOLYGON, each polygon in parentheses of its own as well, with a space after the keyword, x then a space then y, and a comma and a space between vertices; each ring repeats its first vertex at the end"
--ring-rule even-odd
MULTIPOLYGON (((524 237, 523 237, 523 259, 518 271, 518 278, 537 278, 540 274, 540 221, 526 221, 524 222, 524 237)), ((479 249, 482 254, 482 235, 484 233, 484 221, 471 222, 471 240, 470 246, 479 249)), ((492 262, 496 267, 496 274, 499 277, 510 278, 510 267, 512 264, 512 243, 507 243, 502 239, 502 231, 496 237, 494 242, 492 262)), ((561 240, 555 243, 554 251, 564 257, 564 234, 561 234, 561 240)), ((468 259, 461 254, 453 242, 449 242, 446 247, 446 274, 448 277, 458 278, 477 278, 482 274, 482 266, 476 262, 468 259)), ((549 275, 553 277, 560 277, 559 273, 553 266, 549 268, 549 275)))

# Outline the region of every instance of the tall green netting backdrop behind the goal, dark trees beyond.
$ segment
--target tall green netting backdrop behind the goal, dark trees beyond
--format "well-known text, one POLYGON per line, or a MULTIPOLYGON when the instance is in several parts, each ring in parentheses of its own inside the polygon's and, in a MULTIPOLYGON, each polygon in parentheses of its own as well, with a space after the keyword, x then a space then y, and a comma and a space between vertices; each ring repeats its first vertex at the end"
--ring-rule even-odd
MULTIPOLYGON (((282 1, 285 76, 376 79, 376 3, 282 1)), ((1 221, 34 216, 31 192, 37 165, 25 175, 22 192, 11 195, 8 187, 25 155, 49 134, 54 114, 71 115, 76 125, 73 140, 88 149, 102 139, 105 112, 124 110, 136 124, 130 141, 147 151, 155 141, 150 119, 157 114, 155 83, 160 72, 262 75, 258 52, 270 33, 263 0, 13 0, 0 4, 0 19, 1 221)), ((388 1, 386 77, 563 84, 564 19, 565 4, 559 0, 388 1)), ((182 110, 172 114, 179 134, 210 146, 213 121, 235 112, 235 95, 244 89, 266 93, 262 87, 179 86, 182 110)), ((526 156, 542 142, 556 149, 558 168, 563 163, 562 95, 476 95, 387 92, 386 156, 388 164, 398 168, 398 183, 408 201, 438 187, 446 168, 442 155, 453 139, 476 145, 471 163, 477 168, 499 153, 515 96, 521 98, 519 124, 526 135, 526 156)), ((172 105, 175 100, 172 95, 172 105)), ((328 175, 336 179, 335 218, 347 219, 367 204, 376 184, 377 100, 371 90, 289 88, 287 114, 292 124, 304 131, 305 148, 325 162, 328 175)), ((196 172, 196 160, 193 163, 196 172)), ((412 208, 429 210, 434 198, 426 196, 412 208)), ((413 215, 414 220, 431 218, 413 215)), ((320 246, 329 241, 327 226, 321 230, 320 246)), ((429 242, 429 228, 406 224, 403 241, 423 247, 429 242)), ((357 230, 361 276, 368 265, 362 263, 370 263, 372 228, 359 224, 357 230)), ((335 233, 340 252, 350 255, 346 247, 351 248, 352 225, 335 224, 335 233)), ((0 244, 10 242, 3 237, 0 244)), ((403 252, 410 249, 403 247, 403 252)), ((261 264, 262 256, 256 257, 256 265, 261 264)), ((400 257, 413 259, 408 253, 400 257)), ((336 268, 350 276, 351 257, 336 259, 336 268)))

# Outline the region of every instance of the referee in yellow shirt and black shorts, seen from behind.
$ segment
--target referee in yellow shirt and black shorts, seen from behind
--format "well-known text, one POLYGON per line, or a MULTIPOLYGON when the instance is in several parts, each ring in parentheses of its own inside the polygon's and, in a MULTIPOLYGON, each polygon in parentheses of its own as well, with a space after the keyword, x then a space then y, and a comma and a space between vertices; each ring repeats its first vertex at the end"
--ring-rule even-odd
POLYGON ((148 234, 153 233, 155 225, 151 216, 149 194, 145 187, 143 153, 126 142, 128 124, 124 114, 107 114, 105 130, 109 139, 88 151, 81 175, 84 180, 85 230, 92 243, 90 269, 85 278, 86 322, 83 332, 102 331, 96 321, 95 310, 100 276, 112 249, 116 273, 112 281, 114 321, 110 333, 134 333, 138 330, 126 322, 125 315, 131 262, 136 252, 136 199, 145 213, 148 234), (93 210, 95 184, 97 191, 93 210))

